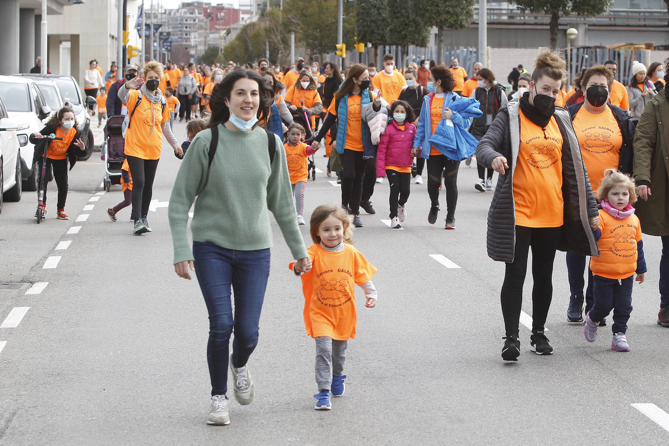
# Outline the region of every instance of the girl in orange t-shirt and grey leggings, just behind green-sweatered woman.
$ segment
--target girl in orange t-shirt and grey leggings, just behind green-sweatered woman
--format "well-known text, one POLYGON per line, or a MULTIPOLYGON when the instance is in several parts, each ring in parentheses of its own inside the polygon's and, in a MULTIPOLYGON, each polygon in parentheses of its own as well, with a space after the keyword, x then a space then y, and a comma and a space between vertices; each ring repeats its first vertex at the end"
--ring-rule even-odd
POLYGON ((306 189, 306 181, 309 179, 307 157, 316 152, 312 146, 307 146, 304 142, 305 134, 304 127, 294 122, 288 126, 288 142, 284 144, 290 185, 295 196, 298 225, 304 225, 304 217, 302 217, 304 212, 304 189, 306 189))

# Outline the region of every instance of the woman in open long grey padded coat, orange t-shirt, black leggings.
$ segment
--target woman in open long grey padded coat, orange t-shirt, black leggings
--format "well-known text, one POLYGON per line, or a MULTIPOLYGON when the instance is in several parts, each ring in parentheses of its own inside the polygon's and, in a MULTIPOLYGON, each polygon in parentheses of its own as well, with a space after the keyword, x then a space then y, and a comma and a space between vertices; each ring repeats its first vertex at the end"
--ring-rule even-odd
POLYGON ((532 248, 530 350, 552 354, 544 326, 553 298, 555 251, 599 255, 592 229, 597 201, 583 166, 569 113, 555 107, 565 61, 544 50, 535 62, 529 92, 502 106, 476 148, 476 160, 499 175, 488 213, 488 255, 506 262, 502 359, 518 360, 522 286, 532 248))

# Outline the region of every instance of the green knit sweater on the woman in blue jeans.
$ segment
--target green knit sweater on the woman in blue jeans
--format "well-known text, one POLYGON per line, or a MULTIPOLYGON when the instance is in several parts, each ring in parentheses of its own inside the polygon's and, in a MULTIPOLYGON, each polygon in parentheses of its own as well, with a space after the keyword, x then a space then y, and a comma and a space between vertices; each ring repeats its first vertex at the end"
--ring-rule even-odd
POLYGON ((194 241, 239 251, 271 247, 268 211, 272 211, 294 258, 308 257, 297 225, 281 140, 275 136, 276 154, 270 166, 264 129, 235 132, 219 124, 218 132, 211 169, 207 167, 211 130, 207 129, 193 138, 175 179, 168 209, 174 263, 193 260, 186 227, 195 197, 191 221, 194 241))

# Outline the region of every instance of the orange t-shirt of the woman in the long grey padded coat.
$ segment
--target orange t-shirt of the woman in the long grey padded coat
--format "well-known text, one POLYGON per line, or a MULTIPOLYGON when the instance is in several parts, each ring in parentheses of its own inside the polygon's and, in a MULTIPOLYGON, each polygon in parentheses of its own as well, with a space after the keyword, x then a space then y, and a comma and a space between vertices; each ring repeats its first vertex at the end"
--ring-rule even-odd
POLYGON ((546 126, 546 137, 520 110, 520 152, 513 173, 518 226, 560 227, 564 223, 563 138, 555 116, 546 126))

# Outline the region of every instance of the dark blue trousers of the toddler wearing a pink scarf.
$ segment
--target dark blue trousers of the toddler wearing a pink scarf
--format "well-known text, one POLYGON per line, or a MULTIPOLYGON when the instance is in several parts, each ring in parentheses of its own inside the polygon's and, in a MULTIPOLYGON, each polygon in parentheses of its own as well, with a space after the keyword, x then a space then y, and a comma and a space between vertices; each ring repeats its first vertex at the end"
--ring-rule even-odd
POLYGON ((626 333, 627 322, 632 313, 632 284, 634 275, 627 279, 607 279, 593 275, 595 304, 590 309, 590 320, 599 322, 613 310, 613 334, 626 333))

